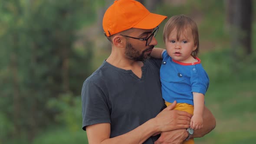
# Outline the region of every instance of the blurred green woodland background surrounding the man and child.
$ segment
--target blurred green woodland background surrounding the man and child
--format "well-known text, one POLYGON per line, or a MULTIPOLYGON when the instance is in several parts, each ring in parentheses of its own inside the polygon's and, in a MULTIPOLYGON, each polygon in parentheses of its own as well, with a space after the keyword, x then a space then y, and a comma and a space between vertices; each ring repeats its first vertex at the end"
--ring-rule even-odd
MULTIPOLYGON (((151 12, 186 14, 197 22, 199 57, 210 77, 205 104, 217 126, 196 143, 255 144, 256 2, 139 1, 151 12), (234 6, 239 2, 243 9, 234 6), (249 6, 251 14, 242 15, 249 6), (237 28, 239 22, 249 23, 250 33, 237 28)), ((112 3, 0 0, 0 144, 87 143, 80 93, 84 80, 111 52, 102 16, 112 3)), ((164 48, 166 21, 157 47, 164 48)))

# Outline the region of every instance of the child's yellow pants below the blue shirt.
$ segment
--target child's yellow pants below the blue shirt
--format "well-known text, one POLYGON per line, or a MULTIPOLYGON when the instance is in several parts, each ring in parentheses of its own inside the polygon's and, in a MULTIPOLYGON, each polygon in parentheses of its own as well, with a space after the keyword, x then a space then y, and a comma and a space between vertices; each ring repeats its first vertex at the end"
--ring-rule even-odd
MULTIPOLYGON (((165 101, 165 104, 167 106, 171 105, 171 103, 167 101, 165 101)), ((194 106, 186 103, 177 103, 174 109, 179 111, 187 111, 192 115, 194 113, 194 106)), ((194 144, 194 138, 191 138, 188 141, 184 141, 182 144, 194 144)))

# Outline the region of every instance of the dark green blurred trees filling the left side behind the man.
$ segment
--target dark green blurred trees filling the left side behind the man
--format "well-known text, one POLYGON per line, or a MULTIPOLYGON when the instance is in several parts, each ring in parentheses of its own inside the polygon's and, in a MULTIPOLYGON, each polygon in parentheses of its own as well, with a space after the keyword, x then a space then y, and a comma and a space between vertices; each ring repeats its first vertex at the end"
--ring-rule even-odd
POLYGON ((0 3, 0 46, 4 48, 0 52, 0 119, 4 122, 1 128, 8 126, 0 139, 7 143, 12 137, 28 143, 46 125, 58 122, 55 115, 62 111, 46 107, 49 99, 69 92, 80 94, 91 72, 91 47, 78 50, 75 46, 76 31, 85 23, 83 13, 92 11, 91 2, 0 3))

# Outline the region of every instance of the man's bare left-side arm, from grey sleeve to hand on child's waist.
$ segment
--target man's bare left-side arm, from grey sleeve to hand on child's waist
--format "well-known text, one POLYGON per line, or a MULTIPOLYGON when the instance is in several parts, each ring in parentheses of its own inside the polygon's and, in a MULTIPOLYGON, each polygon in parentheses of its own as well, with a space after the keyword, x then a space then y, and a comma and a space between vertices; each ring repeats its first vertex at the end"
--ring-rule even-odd
POLYGON ((176 102, 134 130, 113 138, 110 138, 109 123, 86 126, 89 144, 142 144, 158 132, 188 128, 192 115, 185 111, 172 110, 174 104, 176 102))

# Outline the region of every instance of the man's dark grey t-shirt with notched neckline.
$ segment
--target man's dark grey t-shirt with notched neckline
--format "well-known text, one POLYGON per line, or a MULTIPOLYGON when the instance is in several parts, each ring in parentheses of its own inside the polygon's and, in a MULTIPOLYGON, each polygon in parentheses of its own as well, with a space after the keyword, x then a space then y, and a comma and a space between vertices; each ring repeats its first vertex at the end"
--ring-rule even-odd
MULTIPOLYGON (((161 59, 144 62, 141 79, 131 70, 119 69, 104 61, 82 87, 82 128, 110 123, 110 137, 125 134, 165 107, 161 95, 161 59)), ((144 144, 153 144, 159 136, 144 144)))

